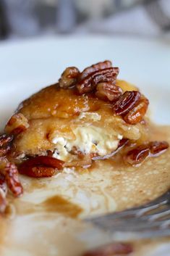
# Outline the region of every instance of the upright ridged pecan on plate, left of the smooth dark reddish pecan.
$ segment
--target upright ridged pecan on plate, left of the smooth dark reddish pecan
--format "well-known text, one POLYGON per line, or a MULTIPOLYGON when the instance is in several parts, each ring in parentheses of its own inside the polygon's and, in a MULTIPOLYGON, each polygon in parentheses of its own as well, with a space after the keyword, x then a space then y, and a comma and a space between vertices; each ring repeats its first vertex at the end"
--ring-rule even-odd
POLYGON ((15 197, 23 193, 22 184, 20 183, 17 166, 8 162, 4 169, 5 181, 15 197))

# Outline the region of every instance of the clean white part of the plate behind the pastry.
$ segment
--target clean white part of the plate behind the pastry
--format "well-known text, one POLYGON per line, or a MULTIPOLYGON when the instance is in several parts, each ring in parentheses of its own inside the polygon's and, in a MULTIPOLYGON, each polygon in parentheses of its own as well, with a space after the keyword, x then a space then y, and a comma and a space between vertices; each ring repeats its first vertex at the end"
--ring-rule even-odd
MULTIPOLYGON (((0 44, 0 129, 22 99, 55 83, 65 67, 82 69, 104 59, 120 67, 119 78, 135 83, 148 96, 153 120, 170 123, 169 41, 56 37, 0 44)), ((169 255, 169 249, 163 247, 158 255, 169 255)))

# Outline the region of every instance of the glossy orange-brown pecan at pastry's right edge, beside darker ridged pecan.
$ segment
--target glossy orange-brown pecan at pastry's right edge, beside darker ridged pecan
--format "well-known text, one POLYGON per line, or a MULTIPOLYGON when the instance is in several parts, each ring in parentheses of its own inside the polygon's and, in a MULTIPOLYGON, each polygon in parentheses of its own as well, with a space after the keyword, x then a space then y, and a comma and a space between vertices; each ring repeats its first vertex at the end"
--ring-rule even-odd
POLYGON ((148 99, 146 99, 144 96, 141 97, 140 102, 138 102, 137 105, 123 117, 124 121, 131 125, 140 123, 148 110, 148 104, 148 99))

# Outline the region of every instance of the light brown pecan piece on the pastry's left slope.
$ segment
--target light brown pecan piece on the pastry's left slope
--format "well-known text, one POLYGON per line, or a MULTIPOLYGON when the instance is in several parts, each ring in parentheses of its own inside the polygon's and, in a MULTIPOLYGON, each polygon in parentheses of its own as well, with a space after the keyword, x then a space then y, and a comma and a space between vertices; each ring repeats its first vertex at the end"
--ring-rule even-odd
POLYGON ((17 135, 19 133, 22 133, 22 131, 25 131, 28 127, 29 123, 27 118, 24 115, 22 115, 22 113, 18 113, 12 115, 12 117, 6 125, 5 131, 7 133, 17 135))

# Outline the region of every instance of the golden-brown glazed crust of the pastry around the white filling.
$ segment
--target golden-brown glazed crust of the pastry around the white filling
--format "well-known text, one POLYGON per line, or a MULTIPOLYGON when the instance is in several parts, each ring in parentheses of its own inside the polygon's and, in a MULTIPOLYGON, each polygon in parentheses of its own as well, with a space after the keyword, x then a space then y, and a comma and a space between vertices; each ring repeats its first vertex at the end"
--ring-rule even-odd
MULTIPOLYGON (((135 88, 124 81, 118 80, 117 83, 122 90, 135 88)), ((54 151, 56 145, 51 142, 51 138, 56 133, 60 137, 75 139, 72 130, 83 122, 86 123, 86 120, 77 120, 81 112, 95 112, 100 115, 101 120, 91 123, 96 127, 109 129, 115 136, 122 134, 124 138, 139 141, 146 139, 147 125, 142 123, 127 125, 121 117, 113 114, 111 107, 111 102, 104 102, 93 94, 77 95, 75 89, 64 90, 57 84, 48 86, 22 102, 22 107, 14 115, 27 120, 27 129, 15 135, 12 154, 17 157, 23 153, 34 155, 43 154, 47 150, 54 151)), ((9 120, 5 128, 6 132, 12 130, 10 125, 9 120)))

